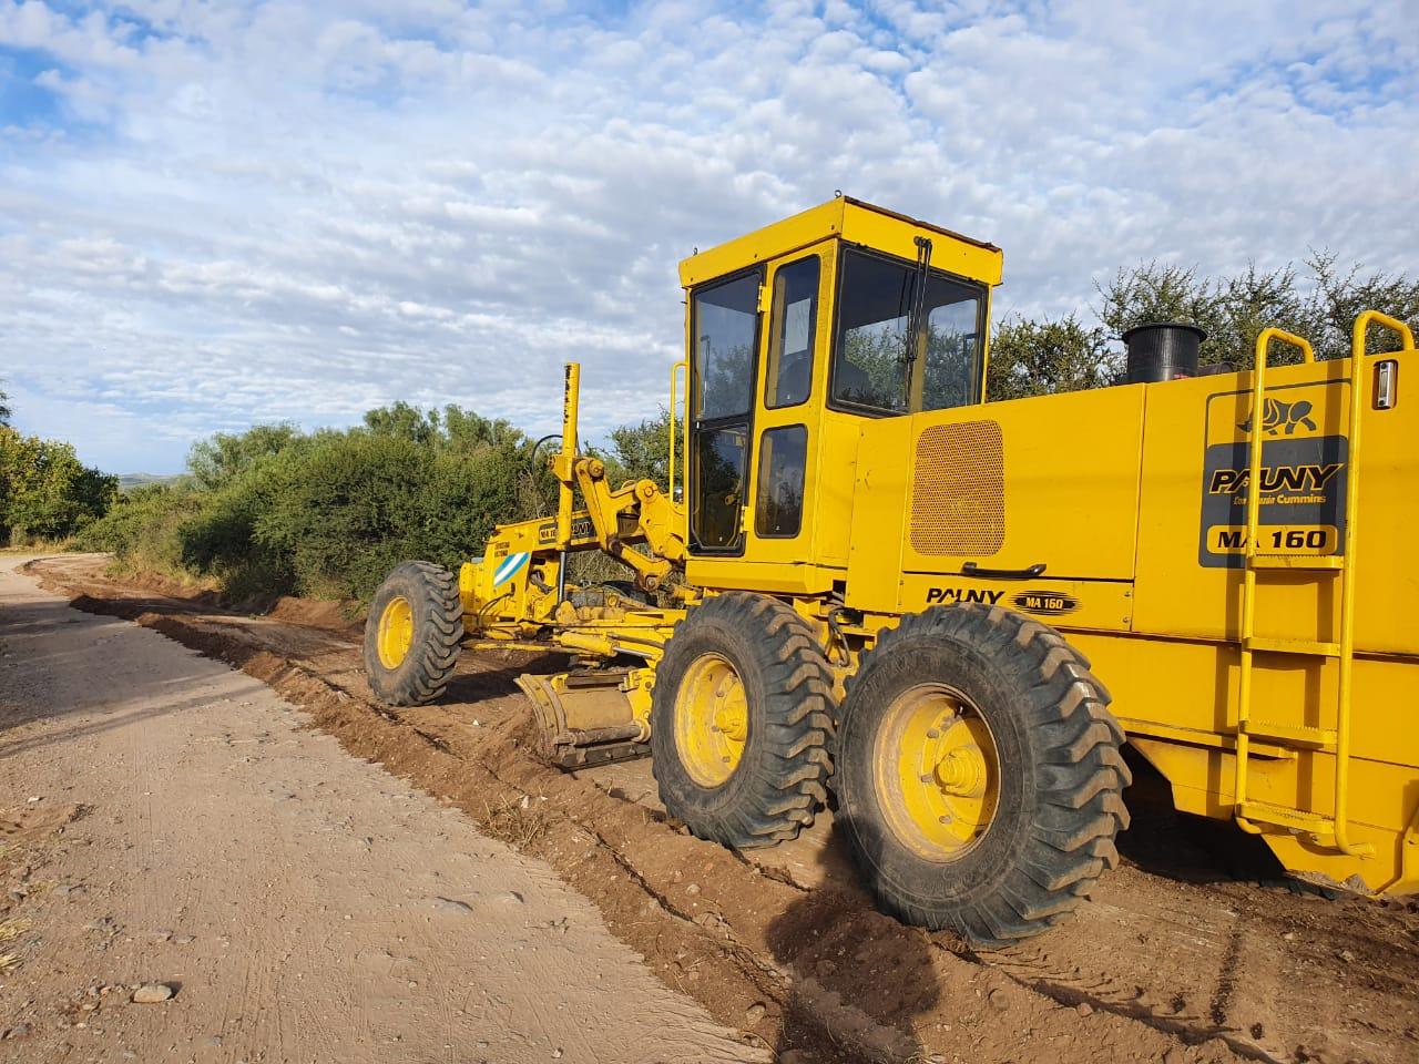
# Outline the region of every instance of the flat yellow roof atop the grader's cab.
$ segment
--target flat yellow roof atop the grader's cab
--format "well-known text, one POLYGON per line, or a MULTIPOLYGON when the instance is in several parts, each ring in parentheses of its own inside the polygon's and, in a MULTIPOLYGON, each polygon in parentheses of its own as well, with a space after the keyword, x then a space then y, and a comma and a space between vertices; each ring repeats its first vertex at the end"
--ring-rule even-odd
POLYGON ((680 262, 680 284, 736 272, 755 262, 779 258, 822 240, 841 237, 851 244, 877 248, 900 258, 917 257, 917 237, 931 240, 931 265, 958 277, 1000 284, 1003 255, 995 244, 964 237, 948 228, 898 214, 849 196, 839 196, 802 214, 736 237, 680 262))

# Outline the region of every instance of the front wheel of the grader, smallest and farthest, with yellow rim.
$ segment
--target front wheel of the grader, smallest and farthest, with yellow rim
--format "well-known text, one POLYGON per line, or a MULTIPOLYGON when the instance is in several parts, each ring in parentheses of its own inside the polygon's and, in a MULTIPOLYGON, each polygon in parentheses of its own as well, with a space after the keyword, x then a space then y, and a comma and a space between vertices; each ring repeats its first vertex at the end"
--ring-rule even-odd
POLYGON ((448 685, 463 641, 458 583, 443 566, 404 562, 375 592, 365 621, 365 674, 387 705, 423 705, 448 685))

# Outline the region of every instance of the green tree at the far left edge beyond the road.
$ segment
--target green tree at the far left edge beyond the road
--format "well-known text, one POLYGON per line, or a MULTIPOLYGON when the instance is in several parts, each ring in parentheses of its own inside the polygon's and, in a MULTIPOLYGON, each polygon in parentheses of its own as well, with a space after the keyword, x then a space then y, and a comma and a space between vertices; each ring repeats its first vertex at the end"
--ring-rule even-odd
POLYGON ((101 518, 118 478, 84 465, 57 440, 0 427, 0 538, 65 539, 101 518))

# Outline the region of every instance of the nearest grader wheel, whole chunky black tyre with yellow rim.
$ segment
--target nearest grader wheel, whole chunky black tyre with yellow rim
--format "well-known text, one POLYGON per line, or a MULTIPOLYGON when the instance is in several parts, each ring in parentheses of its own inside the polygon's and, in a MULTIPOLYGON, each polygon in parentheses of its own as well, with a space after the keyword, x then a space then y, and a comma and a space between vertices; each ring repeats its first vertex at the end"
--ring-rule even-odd
POLYGON ((982 946, 1076 908, 1128 826, 1122 731, 1088 661, 978 604, 904 617, 849 680, 834 787, 884 909, 982 946))

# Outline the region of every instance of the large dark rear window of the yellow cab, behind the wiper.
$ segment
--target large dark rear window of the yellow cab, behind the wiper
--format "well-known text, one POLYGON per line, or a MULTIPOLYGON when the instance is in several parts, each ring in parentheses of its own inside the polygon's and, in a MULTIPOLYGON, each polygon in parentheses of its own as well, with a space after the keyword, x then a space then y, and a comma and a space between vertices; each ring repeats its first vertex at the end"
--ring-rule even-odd
POLYGON ((978 401, 985 289, 928 271, 915 350, 908 350, 918 277, 911 264, 844 251, 833 343, 834 406, 887 416, 978 401))

